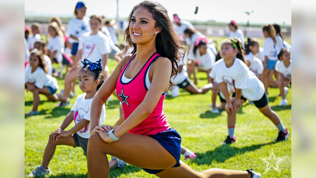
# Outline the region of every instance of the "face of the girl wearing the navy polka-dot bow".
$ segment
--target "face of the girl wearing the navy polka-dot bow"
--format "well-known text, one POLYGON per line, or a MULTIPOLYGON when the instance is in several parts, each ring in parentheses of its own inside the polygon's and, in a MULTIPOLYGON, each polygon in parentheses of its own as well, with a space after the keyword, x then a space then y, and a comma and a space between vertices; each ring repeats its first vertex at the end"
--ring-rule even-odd
POLYGON ((99 84, 98 80, 94 80, 93 76, 91 75, 90 71, 88 70, 81 70, 79 72, 79 87, 82 92, 93 92, 96 91, 96 88, 99 84))

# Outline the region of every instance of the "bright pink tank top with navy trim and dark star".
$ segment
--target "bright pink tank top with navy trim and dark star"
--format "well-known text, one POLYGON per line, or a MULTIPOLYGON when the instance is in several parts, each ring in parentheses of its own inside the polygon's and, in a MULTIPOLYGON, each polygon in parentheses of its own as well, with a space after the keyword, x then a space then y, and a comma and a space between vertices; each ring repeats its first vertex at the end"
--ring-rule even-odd
MULTIPOLYGON (((135 58, 136 54, 125 64, 116 84, 116 92, 119 100, 122 102, 125 119, 128 118, 131 113, 137 108, 139 104, 144 100, 148 88, 145 84, 146 73, 149 70, 150 65, 161 55, 157 52, 154 53, 149 60, 145 63, 143 68, 136 74, 136 76, 129 82, 124 83, 122 81, 122 75, 125 73, 128 65, 135 58)), ((139 135, 155 135, 159 132, 165 131, 170 128, 167 117, 163 112, 163 99, 165 98, 165 92, 161 95, 154 111, 140 124, 131 129, 128 133, 139 135)))

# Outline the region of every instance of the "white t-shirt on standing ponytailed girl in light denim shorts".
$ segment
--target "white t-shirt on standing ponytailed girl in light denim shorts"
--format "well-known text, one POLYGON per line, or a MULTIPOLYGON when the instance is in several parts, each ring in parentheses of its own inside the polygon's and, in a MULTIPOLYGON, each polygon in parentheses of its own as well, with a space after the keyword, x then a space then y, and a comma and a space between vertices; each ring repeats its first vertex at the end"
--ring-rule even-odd
POLYGON ((277 57, 277 52, 280 50, 280 45, 274 44, 271 37, 268 37, 263 42, 263 54, 268 56, 269 60, 279 60, 277 57))

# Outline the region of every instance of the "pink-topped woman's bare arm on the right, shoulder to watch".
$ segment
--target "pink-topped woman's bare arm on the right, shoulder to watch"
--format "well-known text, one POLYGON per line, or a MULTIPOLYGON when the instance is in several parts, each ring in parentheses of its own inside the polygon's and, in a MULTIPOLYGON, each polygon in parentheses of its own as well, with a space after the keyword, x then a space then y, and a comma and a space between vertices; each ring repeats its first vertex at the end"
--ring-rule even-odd
POLYGON ((156 60, 153 67, 153 77, 150 88, 145 95, 143 102, 131 113, 131 115, 113 133, 116 137, 137 126, 155 109, 161 94, 167 90, 169 84, 172 64, 167 58, 156 60), (156 64, 155 64, 156 63, 156 64))

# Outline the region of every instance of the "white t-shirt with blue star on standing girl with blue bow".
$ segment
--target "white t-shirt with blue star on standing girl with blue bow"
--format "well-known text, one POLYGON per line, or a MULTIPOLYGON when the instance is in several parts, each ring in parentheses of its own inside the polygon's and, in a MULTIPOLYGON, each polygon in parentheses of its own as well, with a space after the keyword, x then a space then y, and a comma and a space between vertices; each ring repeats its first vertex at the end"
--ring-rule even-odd
MULTIPOLYGON (((90 29, 90 18, 83 17, 83 19, 77 19, 77 17, 73 17, 70 19, 67 28, 67 34, 74 35, 77 38, 80 38, 82 34, 91 31, 90 29)), ((78 43, 77 40, 69 38, 70 43, 78 43)))

